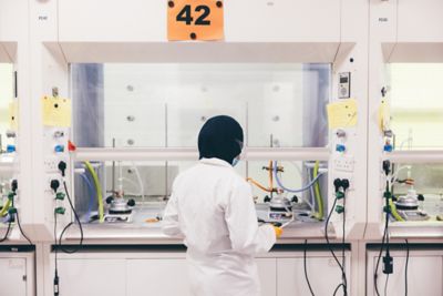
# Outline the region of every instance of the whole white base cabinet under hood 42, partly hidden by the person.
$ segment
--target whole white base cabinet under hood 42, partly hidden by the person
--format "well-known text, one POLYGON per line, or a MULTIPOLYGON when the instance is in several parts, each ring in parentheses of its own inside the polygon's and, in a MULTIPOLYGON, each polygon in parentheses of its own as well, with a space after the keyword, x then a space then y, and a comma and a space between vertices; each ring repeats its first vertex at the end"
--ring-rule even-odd
MULTIPOLYGON (((310 295, 301 252, 269 253, 257 258, 261 296, 310 295)), ((347 257, 349 271, 350 262, 347 257)), ((307 267, 313 292, 330 296, 341 272, 327 252, 311 252, 307 267)), ((51 275, 53 271, 51 272, 51 275)), ((185 253, 60 254, 60 292, 63 296, 190 296, 185 253)), ((348 272, 348 290, 351 275, 348 272)))

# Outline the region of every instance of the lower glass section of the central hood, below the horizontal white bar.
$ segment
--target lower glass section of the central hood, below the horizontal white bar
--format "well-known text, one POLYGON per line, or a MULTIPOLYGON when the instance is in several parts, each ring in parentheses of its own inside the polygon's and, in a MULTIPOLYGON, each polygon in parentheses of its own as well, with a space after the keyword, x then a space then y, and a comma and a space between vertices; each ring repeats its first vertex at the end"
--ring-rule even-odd
MULTIPOLYGON (((91 162, 94 174, 97 175, 100 188, 103 192, 104 214, 112 217, 113 202, 110 196, 124 201, 124 205, 133 200, 135 207, 133 210, 132 222, 142 223, 144 213, 150 211, 163 212, 165 202, 172 192, 172 184, 175 177, 185 170, 195 165, 197 162, 91 162), (114 194, 113 194, 114 193, 114 194), (111 214, 111 215, 110 215, 111 214)), ((258 213, 267 214, 269 210, 269 197, 286 197, 291 203, 290 207, 303 217, 310 218, 319 211, 319 198, 327 208, 327 163, 318 163, 319 186, 318 193, 312 183, 316 162, 278 162, 279 169, 277 182, 272 174, 272 185, 269 182, 269 166, 267 162, 245 162, 241 161, 235 170, 237 173, 248 180, 253 188, 253 196, 257 203, 258 213), (258 185, 257 185, 258 184, 258 185), (303 191, 297 193, 280 193, 277 191, 269 193, 258 186, 266 188, 287 186, 290 190, 303 191)), ((97 217, 97 193, 91 170, 85 163, 75 164, 75 206, 84 222, 92 220, 96 223, 97 217)), ((316 220, 313 220, 316 221, 316 220)), ((107 221, 110 222, 110 221, 107 221)), ((131 222, 131 221, 130 221, 131 222)))

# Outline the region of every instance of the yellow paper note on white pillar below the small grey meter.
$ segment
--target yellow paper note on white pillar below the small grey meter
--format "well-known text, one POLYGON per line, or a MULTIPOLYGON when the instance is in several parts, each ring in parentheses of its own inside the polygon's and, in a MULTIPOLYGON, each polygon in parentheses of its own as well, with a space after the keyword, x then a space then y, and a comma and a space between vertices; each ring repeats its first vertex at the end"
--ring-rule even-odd
POLYGON ((357 100, 348 99, 330 103, 327 106, 329 129, 357 125, 357 100))

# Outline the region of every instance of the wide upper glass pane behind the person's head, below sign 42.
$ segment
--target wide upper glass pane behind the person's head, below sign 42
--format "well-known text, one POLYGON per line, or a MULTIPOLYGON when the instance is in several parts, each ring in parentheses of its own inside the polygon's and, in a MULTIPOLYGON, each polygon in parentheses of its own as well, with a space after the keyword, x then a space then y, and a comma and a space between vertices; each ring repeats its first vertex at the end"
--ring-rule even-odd
POLYGON ((73 64, 79 146, 196 147, 231 115, 249 146, 324 146, 329 64, 73 64))

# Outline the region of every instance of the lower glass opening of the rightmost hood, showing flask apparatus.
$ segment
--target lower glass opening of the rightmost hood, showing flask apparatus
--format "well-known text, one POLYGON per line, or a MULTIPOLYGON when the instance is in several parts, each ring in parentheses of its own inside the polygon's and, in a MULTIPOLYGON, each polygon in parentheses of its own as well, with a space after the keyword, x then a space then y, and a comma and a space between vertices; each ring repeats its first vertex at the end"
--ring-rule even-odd
POLYGON ((400 215, 408 221, 443 218, 442 164, 395 164, 393 194, 400 215))

